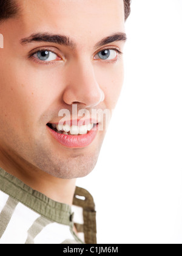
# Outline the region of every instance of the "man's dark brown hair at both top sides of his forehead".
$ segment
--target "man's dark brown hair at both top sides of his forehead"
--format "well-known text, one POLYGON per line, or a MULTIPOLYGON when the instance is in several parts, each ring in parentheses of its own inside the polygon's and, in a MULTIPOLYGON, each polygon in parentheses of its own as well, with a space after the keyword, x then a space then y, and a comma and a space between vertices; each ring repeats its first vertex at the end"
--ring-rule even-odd
MULTIPOLYGON (((131 0, 124 0, 125 20, 130 15, 131 0)), ((15 18, 18 15, 18 5, 15 0, 0 0, 0 21, 15 18)))

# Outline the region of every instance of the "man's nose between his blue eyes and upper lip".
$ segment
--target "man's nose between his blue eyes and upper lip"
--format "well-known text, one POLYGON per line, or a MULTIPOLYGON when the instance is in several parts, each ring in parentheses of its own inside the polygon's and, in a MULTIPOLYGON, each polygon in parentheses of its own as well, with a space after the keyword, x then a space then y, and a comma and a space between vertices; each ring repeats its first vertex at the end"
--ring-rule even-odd
POLYGON ((72 66, 67 68, 67 86, 63 93, 63 101, 66 104, 95 107, 104 101, 104 98, 91 62, 72 63, 72 66))

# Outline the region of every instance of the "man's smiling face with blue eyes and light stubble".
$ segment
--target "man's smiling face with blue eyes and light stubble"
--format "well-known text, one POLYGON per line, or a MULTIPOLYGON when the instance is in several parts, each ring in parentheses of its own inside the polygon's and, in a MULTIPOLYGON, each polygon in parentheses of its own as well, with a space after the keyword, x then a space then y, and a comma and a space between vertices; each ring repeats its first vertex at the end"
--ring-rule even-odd
POLYGON ((72 124, 77 120, 73 104, 90 113, 115 107, 123 84, 118 51, 123 52, 124 40, 121 35, 102 40, 124 33, 123 0, 18 3, 21 16, 0 25, 0 151, 24 168, 62 179, 86 176, 96 164, 106 129, 90 141, 87 134, 77 135, 72 144, 71 135, 59 135, 64 136, 61 143, 47 124, 58 124, 62 109, 70 111, 72 124), (53 35, 70 38, 69 44, 53 35), (83 146, 79 136, 85 136, 83 146))

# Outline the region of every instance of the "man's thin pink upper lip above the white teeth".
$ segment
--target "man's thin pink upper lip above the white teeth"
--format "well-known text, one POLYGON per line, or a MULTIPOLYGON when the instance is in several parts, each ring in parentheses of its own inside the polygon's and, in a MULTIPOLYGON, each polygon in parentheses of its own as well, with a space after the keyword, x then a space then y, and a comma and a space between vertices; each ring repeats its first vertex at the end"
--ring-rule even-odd
POLYGON ((98 124, 99 121, 97 121, 96 119, 83 119, 83 118, 79 118, 79 119, 67 119, 64 121, 61 121, 61 119, 59 121, 56 122, 49 122, 49 124, 60 124, 60 125, 64 125, 64 124, 69 124, 70 126, 83 126, 83 125, 87 125, 87 124, 98 124))

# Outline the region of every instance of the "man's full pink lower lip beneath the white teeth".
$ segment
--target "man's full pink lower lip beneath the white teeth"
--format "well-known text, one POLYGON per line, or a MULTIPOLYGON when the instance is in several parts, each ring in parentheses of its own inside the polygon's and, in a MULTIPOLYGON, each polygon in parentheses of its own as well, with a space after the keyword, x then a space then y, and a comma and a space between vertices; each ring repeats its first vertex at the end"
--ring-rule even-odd
POLYGON ((78 136, 57 133, 49 126, 47 126, 47 128, 50 130, 56 141, 67 148, 86 148, 93 142, 98 132, 98 124, 97 126, 93 127, 93 129, 90 130, 87 134, 78 136))

